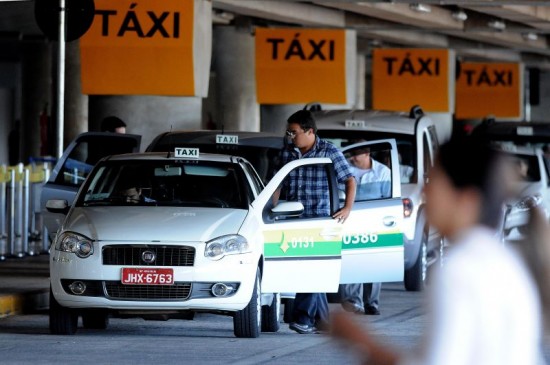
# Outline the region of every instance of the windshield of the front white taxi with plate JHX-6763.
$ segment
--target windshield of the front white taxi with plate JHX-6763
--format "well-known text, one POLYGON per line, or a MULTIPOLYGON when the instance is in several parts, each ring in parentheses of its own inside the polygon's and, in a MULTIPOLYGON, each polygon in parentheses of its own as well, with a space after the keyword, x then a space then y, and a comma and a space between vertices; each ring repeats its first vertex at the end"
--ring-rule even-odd
POLYGON ((127 160, 101 163, 77 206, 189 206, 246 209, 250 190, 234 163, 127 160))

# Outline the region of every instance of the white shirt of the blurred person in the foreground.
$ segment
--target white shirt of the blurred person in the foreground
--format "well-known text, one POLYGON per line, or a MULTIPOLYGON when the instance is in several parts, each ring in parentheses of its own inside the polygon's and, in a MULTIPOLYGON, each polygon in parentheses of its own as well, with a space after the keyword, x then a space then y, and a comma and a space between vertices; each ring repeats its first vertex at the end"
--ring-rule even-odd
POLYGON ((433 278, 425 347, 402 364, 540 364, 535 283, 493 231, 476 227, 461 235, 433 278))

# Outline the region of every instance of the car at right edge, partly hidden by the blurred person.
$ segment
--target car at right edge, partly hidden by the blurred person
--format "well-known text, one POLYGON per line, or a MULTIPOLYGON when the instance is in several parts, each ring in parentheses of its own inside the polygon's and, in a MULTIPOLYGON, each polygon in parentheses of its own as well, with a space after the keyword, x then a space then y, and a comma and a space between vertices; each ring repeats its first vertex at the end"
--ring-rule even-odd
POLYGON ((499 148, 515 172, 502 225, 505 241, 519 240, 527 227, 528 210, 538 206, 550 216, 550 161, 544 150, 550 146, 550 124, 542 122, 485 119, 473 131, 499 148))

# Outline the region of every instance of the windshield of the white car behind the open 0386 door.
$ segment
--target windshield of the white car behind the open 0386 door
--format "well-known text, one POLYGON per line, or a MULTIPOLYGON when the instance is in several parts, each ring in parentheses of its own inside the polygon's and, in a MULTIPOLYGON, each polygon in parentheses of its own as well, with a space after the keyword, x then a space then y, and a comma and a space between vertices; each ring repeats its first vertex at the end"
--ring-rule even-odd
POLYGON ((319 137, 332 142, 336 147, 343 148, 354 143, 377 139, 394 138, 399 153, 401 183, 416 183, 416 147, 414 136, 401 133, 386 133, 357 130, 318 130, 319 137))

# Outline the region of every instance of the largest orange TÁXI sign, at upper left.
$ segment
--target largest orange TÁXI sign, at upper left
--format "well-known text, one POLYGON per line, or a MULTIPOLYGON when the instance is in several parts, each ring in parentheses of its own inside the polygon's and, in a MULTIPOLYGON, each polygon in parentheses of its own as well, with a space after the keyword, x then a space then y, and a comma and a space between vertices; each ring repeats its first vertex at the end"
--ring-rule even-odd
POLYGON ((80 40, 83 93, 206 96, 211 33, 198 23, 208 17, 209 1, 95 0, 80 40))

